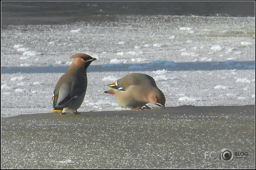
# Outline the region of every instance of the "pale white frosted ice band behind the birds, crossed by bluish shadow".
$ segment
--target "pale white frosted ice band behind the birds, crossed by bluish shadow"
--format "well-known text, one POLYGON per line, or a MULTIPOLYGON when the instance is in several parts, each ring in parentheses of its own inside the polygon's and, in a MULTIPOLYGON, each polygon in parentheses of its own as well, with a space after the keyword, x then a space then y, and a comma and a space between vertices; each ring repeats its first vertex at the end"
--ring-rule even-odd
POLYGON ((51 112, 55 84, 75 53, 98 58, 79 112, 126 110, 101 92, 131 72, 155 78, 166 107, 255 104, 255 18, 111 17, 2 27, 1 116, 51 112))

